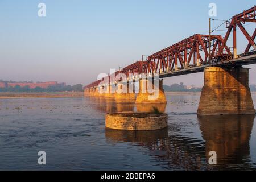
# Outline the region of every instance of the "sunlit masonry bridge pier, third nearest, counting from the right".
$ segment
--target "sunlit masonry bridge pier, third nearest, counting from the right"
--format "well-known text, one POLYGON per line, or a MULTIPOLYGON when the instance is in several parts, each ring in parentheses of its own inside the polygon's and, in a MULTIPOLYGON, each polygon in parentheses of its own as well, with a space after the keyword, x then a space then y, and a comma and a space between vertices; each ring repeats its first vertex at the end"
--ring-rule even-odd
POLYGON ((115 89, 115 102, 134 102, 135 101, 135 93, 133 85, 129 84, 129 82, 124 84, 117 84, 117 88, 115 89))

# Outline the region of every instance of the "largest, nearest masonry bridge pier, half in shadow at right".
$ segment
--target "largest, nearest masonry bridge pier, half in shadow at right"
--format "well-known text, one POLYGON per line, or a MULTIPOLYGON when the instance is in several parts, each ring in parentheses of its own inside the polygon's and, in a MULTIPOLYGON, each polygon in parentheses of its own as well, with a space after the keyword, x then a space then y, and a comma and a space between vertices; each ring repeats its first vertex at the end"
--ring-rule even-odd
POLYGON ((249 68, 205 68, 197 114, 255 114, 249 88, 249 68))

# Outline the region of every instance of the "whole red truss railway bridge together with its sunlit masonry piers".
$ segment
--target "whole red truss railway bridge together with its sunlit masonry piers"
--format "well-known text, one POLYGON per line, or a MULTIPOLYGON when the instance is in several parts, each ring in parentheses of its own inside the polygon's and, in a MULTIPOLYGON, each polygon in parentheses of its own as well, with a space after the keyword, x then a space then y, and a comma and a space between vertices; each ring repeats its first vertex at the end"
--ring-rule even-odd
POLYGON ((164 104, 163 78, 204 72, 197 114, 255 114, 248 86, 249 69, 243 68, 256 63, 255 17, 256 6, 226 21, 224 37, 195 34, 148 56, 145 61, 137 61, 85 86, 85 96, 112 97, 116 102, 164 104), (251 33, 243 25, 248 22, 254 25, 251 33), (247 41, 246 47, 239 51, 237 28, 247 41))

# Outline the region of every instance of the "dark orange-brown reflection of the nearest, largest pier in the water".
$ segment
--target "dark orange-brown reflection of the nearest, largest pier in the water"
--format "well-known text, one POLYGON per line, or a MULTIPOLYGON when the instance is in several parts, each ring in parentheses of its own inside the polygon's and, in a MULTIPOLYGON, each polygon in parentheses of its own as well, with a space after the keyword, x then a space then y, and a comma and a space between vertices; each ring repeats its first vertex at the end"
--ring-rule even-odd
POLYGON ((250 137, 255 115, 198 116, 205 140, 205 155, 217 152, 221 168, 250 168, 250 137), (234 165, 233 165, 234 164, 234 165))

